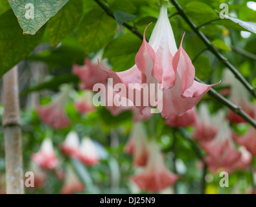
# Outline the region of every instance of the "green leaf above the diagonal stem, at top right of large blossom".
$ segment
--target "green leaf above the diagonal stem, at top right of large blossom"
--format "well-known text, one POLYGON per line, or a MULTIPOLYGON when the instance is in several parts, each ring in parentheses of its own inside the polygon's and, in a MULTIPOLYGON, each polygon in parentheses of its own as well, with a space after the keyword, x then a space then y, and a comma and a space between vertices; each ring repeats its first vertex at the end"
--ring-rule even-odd
POLYGON ((207 4, 198 1, 188 3, 184 10, 196 23, 205 23, 218 17, 215 10, 207 4))

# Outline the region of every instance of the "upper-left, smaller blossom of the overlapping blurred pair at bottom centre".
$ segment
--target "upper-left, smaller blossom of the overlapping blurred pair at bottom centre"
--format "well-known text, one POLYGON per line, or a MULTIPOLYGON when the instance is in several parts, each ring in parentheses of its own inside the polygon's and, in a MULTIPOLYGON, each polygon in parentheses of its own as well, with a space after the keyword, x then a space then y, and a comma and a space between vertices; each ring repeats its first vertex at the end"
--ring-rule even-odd
POLYGON ((145 166, 148 161, 148 140, 146 131, 142 123, 133 125, 128 143, 124 147, 124 152, 133 155, 134 166, 145 166))

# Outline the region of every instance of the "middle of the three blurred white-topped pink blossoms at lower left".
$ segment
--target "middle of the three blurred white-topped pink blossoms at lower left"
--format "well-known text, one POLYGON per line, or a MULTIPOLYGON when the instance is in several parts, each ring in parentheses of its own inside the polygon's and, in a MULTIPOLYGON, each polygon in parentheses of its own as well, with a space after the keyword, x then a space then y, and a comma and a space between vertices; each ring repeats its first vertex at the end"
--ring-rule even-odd
POLYGON ((77 158, 79 152, 79 138, 75 131, 71 131, 67 134, 64 143, 60 146, 62 153, 65 155, 77 158))

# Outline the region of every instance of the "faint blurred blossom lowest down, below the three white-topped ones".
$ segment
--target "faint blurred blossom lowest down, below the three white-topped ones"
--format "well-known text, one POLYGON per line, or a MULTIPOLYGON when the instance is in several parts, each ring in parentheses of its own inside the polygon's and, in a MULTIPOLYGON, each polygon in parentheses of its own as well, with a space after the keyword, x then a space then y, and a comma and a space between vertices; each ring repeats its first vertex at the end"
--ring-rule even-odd
POLYGON ((73 194, 84 191, 84 184, 78 179, 71 166, 67 166, 62 194, 73 194))

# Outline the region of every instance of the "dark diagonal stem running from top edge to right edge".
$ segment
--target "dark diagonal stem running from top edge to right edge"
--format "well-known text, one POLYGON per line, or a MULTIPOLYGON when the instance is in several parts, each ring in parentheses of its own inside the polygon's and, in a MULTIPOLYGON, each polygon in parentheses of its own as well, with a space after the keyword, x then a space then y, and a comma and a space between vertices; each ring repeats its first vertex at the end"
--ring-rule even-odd
POLYGON ((216 56, 216 58, 218 58, 218 60, 220 60, 231 72, 233 72, 235 77, 242 83, 242 85, 244 85, 244 87, 246 87, 246 89, 248 89, 248 91, 251 93, 251 95, 256 98, 256 93, 254 91, 253 86, 247 82, 247 80, 244 78, 244 76, 242 76, 242 74, 240 74, 240 72, 227 60, 227 58, 222 56, 222 54, 220 52, 218 52, 218 50, 216 50, 215 47, 213 47, 213 45, 211 44, 209 39, 207 39, 206 36, 200 30, 198 30, 196 25, 194 25, 194 23, 191 21, 191 19, 189 19, 189 17, 187 17, 187 15, 185 14, 185 12, 183 12, 183 9, 178 4, 178 2, 176 0, 170 0, 170 1, 172 1, 172 4, 176 7, 178 12, 180 13, 180 16, 183 17, 183 19, 187 22, 189 27, 192 28, 194 33, 196 33, 196 35, 200 39, 202 39, 202 41, 207 46, 207 48, 211 52, 213 52, 213 54, 216 56))

